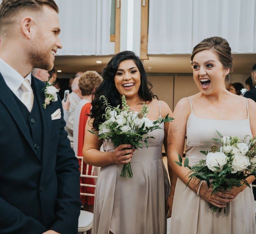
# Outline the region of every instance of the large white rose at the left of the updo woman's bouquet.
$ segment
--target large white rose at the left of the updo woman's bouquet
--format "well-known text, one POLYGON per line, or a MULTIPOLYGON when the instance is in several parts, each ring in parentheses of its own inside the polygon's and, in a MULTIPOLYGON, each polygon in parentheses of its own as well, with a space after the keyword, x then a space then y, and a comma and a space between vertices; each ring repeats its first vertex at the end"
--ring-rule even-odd
POLYGON ((222 153, 222 152, 215 152, 215 153, 208 153, 206 155, 206 166, 211 170, 211 171, 216 171, 220 172, 224 165, 228 162, 228 157, 222 153), (221 170, 218 170, 214 167, 219 167, 221 170))

